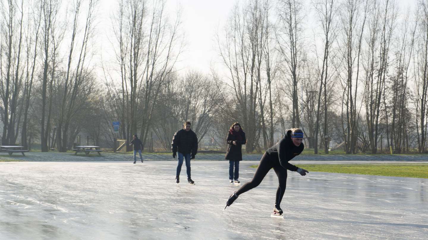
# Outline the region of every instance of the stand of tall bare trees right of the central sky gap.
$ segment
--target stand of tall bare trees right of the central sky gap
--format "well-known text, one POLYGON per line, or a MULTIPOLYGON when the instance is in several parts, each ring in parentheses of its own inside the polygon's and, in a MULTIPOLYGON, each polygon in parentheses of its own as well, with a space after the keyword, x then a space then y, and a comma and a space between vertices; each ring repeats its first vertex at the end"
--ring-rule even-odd
POLYGON ((217 40, 249 136, 266 148, 285 125, 302 128, 315 153, 328 153, 331 140, 347 153, 376 153, 380 141, 425 152, 427 13, 426 1, 413 9, 392 0, 236 5, 217 40))

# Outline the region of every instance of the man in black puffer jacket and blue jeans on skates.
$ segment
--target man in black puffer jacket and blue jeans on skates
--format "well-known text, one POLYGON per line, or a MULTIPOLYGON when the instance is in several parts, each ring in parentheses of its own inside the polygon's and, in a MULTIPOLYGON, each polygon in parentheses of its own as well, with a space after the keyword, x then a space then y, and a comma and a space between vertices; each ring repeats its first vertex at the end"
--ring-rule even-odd
POLYGON ((184 128, 178 130, 172 138, 171 149, 172 157, 175 158, 178 152, 178 165, 177 173, 175 174, 175 182, 180 182, 181 166, 183 165, 183 158, 186 160, 187 181, 194 184, 190 177, 190 159, 195 159, 196 152, 198 151, 198 138, 196 134, 190 129, 190 122, 184 123, 184 128))

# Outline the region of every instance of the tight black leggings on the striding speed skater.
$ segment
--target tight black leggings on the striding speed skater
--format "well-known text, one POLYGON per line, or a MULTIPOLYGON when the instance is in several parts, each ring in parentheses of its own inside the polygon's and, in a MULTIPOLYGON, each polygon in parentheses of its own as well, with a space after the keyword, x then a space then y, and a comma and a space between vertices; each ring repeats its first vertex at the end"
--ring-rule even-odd
POLYGON ((275 204, 279 205, 282 201, 282 196, 284 196, 285 187, 287 185, 287 170, 279 165, 278 159, 272 158, 266 152, 260 160, 259 167, 257 167, 256 173, 254 173, 253 180, 242 185, 242 187, 236 191, 236 194, 239 196, 242 193, 259 186, 271 168, 273 168, 276 176, 278 176, 279 185, 278 189, 276 190, 275 204))

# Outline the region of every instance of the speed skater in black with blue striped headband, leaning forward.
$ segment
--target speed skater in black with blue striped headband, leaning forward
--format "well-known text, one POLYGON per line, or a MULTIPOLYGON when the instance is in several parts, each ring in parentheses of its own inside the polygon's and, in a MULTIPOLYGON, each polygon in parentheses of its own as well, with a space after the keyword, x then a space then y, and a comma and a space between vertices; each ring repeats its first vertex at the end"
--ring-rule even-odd
MULTIPOLYGON (((273 168, 278 176, 279 186, 276 190, 275 206, 273 208, 273 215, 281 215, 282 196, 284 196, 285 185, 287 183, 287 170, 298 172, 300 175, 305 176, 308 171, 290 164, 288 161, 299 155, 303 151, 303 131, 301 129, 288 130, 284 138, 279 140, 278 143, 273 145, 270 149, 266 150, 262 159, 260 160, 259 167, 257 167, 253 180, 242 185, 237 191, 232 193, 226 202, 226 207, 230 206, 239 195, 259 186, 269 170, 273 168)), ((226 209, 225 207, 225 209, 226 209)))

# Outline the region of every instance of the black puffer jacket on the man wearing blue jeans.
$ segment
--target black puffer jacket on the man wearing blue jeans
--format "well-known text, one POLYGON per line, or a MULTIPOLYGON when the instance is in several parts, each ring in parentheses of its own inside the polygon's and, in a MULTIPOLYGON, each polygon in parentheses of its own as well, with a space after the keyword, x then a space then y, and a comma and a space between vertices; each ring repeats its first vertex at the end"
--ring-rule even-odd
POLYGON ((178 130, 172 137, 171 149, 172 152, 196 155, 196 152, 198 152, 198 138, 192 129, 189 131, 178 130))

